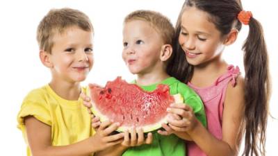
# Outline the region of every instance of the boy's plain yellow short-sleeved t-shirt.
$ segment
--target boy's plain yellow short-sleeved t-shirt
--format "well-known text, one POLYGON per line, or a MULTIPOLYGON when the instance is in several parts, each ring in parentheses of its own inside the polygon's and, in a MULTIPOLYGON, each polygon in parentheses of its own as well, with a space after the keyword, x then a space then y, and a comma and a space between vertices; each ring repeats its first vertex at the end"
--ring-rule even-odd
MULTIPOLYGON (((85 92, 85 88, 83 88, 85 92)), ((74 144, 92 136, 95 131, 91 127, 90 114, 83 101, 67 101, 58 96, 49 85, 34 89, 25 98, 17 115, 17 127, 22 130, 26 139, 24 117, 34 116, 35 119, 51 126, 51 144, 65 146, 74 144)), ((27 155, 31 150, 27 147, 27 155)))

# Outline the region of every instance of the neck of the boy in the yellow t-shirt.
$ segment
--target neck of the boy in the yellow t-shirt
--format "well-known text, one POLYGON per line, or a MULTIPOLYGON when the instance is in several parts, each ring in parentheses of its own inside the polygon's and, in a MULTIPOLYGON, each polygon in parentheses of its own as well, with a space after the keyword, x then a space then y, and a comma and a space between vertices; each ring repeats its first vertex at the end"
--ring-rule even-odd
POLYGON ((79 83, 69 83, 65 80, 54 80, 53 78, 49 86, 58 96, 69 101, 78 100, 79 94, 81 93, 81 86, 79 83))

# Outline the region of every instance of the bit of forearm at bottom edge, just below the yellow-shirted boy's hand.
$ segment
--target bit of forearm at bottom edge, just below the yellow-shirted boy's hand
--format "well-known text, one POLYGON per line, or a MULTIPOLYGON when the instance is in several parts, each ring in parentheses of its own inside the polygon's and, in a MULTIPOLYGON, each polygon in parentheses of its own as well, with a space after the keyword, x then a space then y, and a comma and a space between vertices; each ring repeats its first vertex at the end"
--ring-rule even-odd
POLYGON ((128 147, 117 144, 106 150, 101 150, 98 153, 95 153, 94 156, 120 156, 128 147))

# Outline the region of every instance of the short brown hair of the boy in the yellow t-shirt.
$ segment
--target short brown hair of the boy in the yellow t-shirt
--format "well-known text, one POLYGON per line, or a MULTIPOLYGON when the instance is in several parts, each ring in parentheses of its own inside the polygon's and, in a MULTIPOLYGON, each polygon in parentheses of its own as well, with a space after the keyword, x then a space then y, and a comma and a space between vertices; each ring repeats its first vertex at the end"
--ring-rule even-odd
POLYGON ((78 26, 83 31, 92 31, 92 33, 94 31, 88 16, 79 10, 71 8, 50 10, 38 26, 37 41, 40 50, 51 53, 54 35, 62 34, 66 28, 71 26, 78 26))

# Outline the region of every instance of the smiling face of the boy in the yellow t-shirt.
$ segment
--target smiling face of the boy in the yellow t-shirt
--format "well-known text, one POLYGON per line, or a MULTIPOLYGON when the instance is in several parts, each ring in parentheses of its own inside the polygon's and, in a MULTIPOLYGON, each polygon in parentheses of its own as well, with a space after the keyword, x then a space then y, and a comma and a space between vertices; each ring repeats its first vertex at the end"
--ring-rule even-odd
POLYGON ((85 80, 93 64, 92 32, 74 26, 57 33, 48 57, 53 79, 69 83, 85 80))

